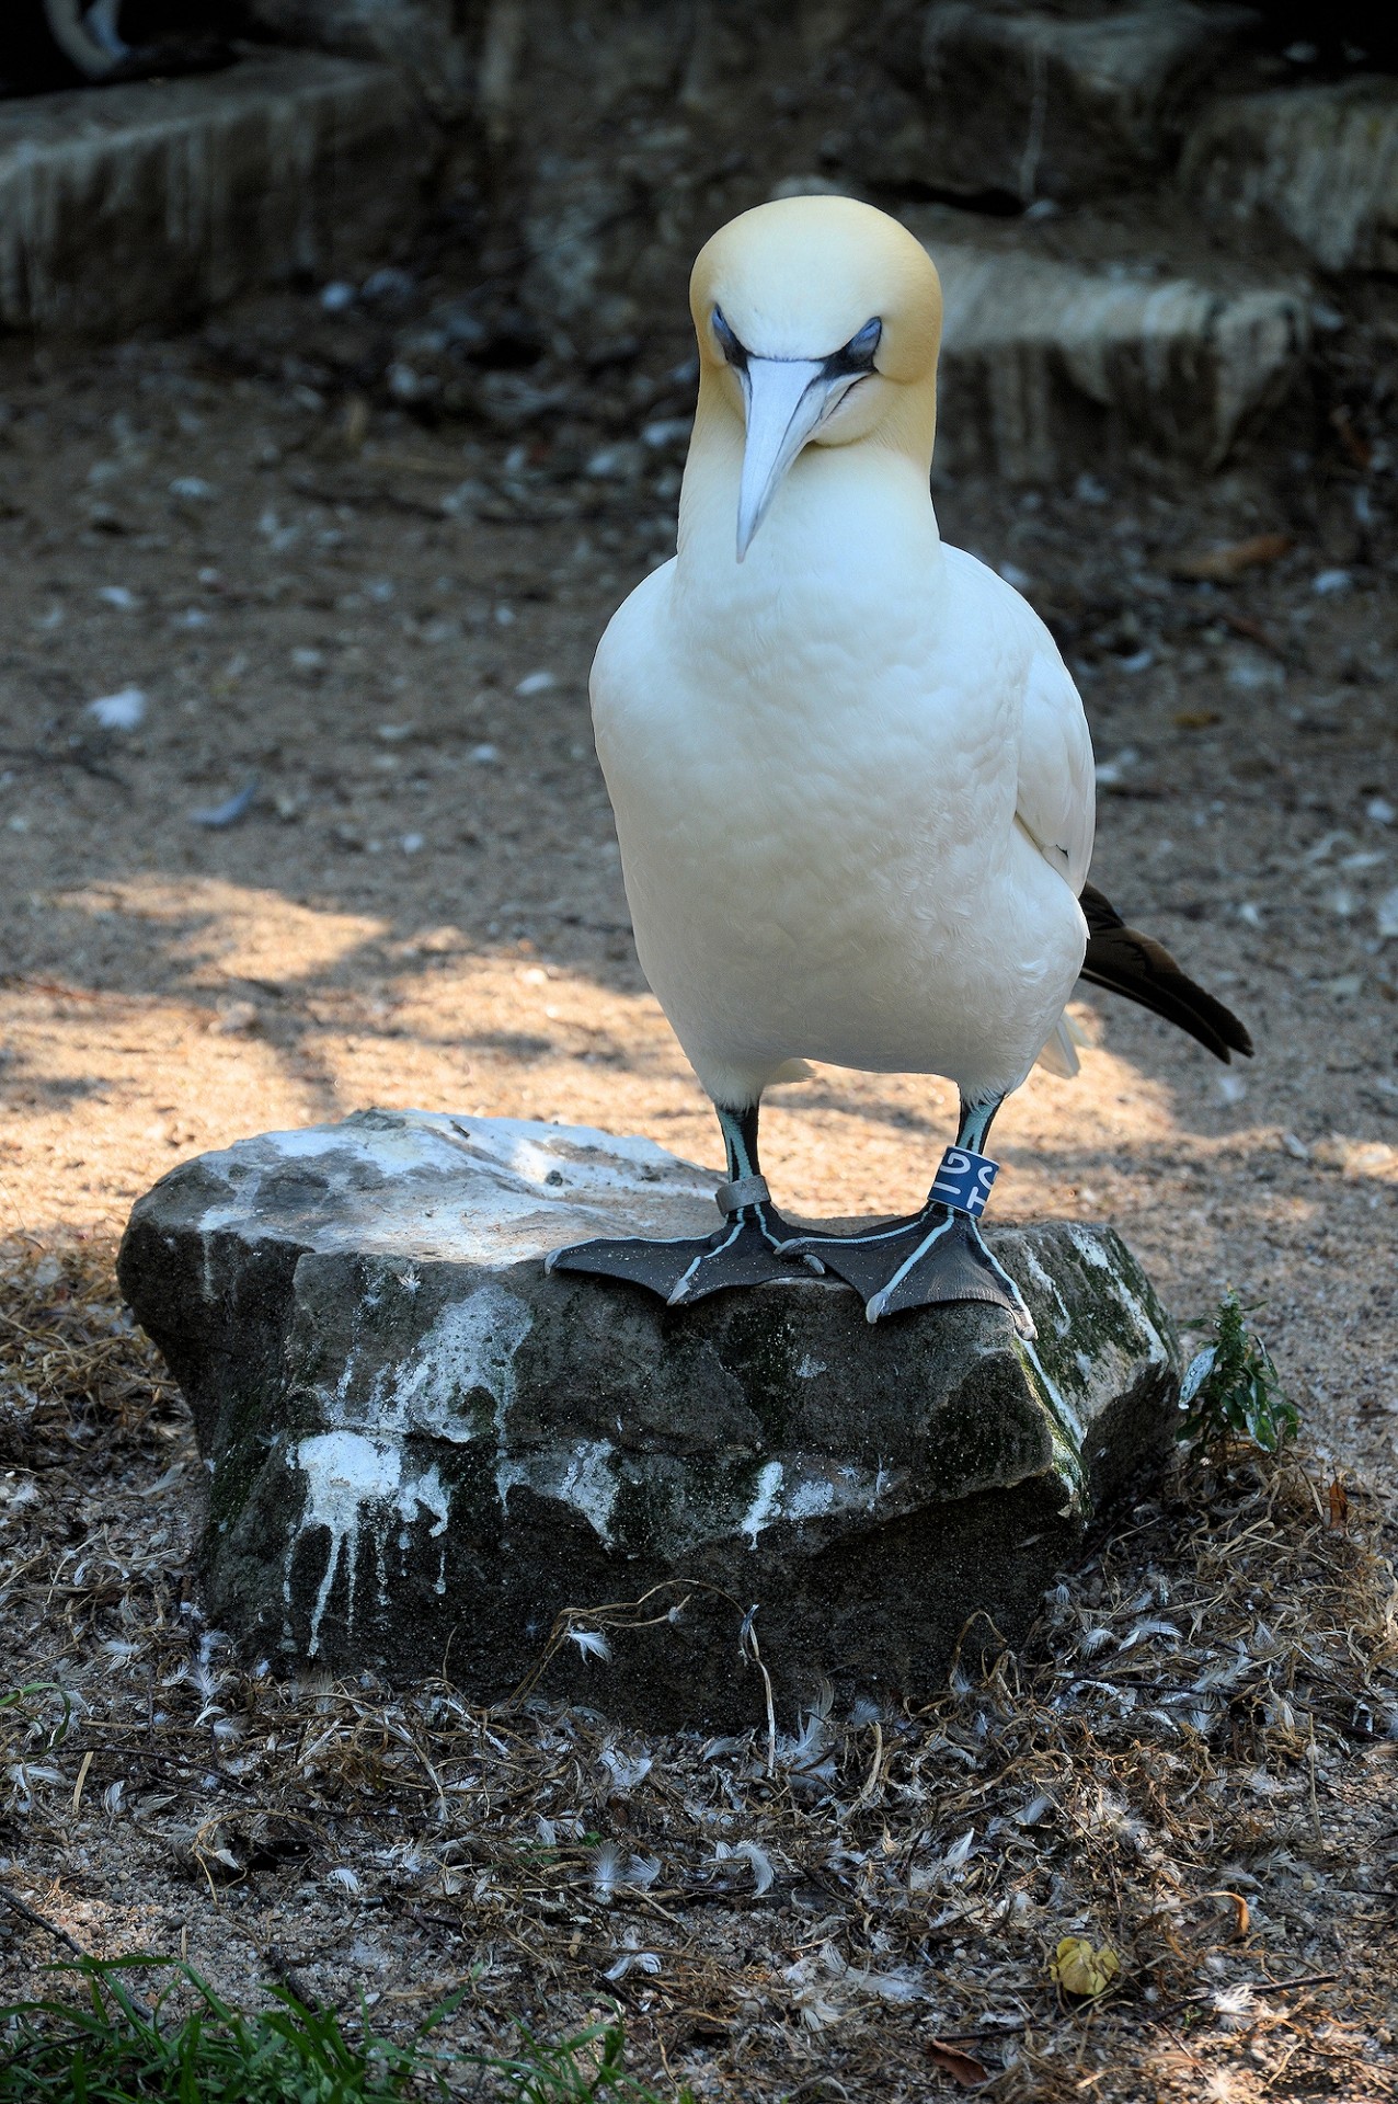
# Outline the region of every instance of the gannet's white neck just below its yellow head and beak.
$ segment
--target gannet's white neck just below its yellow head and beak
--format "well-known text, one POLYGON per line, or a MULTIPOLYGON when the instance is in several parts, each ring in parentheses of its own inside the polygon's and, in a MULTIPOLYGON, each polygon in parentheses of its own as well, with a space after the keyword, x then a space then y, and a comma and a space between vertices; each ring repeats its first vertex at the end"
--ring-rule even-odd
POLYGON ((679 499, 677 585, 711 610, 719 604, 757 612, 793 591, 803 600, 830 591, 849 606, 898 591, 904 579, 925 579, 936 566, 929 433, 925 446, 921 438, 807 446, 738 562, 742 442, 742 421, 717 391, 706 400, 700 387, 679 499))

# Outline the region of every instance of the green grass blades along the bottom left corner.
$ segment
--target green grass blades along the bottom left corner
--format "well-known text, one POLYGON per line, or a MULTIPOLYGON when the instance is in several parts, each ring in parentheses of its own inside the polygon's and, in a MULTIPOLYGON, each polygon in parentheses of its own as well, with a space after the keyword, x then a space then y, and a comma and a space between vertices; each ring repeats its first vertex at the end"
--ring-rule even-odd
MULTIPOLYGON (((660 2104, 624 2072, 616 2020, 557 2045, 521 2028, 519 2051, 492 2058, 429 2043, 467 1988, 399 2045, 374 2032, 368 2009, 347 2037, 334 2009, 309 2009, 284 1986, 271 1988, 271 2007, 246 2016, 174 1959, 78 1959, 53 1969, 76 1976, 78 1992, 0 2007, 0 2104, 408 2104, 452 2096, 452 2066, 492 2072, 500 2104, 660 2104), (126 1984, 141 1971, 168 1976, 151 2009, 126 1984), (181 1984, 191 2009, 172 2007, 181 1984)), ((679 2104, 692 2104, 687 2091, 679 2104)))

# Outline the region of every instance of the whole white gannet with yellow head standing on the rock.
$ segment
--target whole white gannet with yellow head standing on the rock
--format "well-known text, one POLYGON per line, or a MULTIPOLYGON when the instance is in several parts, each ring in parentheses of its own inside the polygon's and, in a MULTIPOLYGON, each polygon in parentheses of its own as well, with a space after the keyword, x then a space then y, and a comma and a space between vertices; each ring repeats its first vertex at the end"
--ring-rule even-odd
POLYGON ((1055 1039, 1072 1060, 1078 976, 1224 1060, 1251 1044, 1085 888, 1078 692, 1039 614, 938 534, 942 288, 921 244, 847 198, 763 204, 706 244, 692 309, 679 553, 612 619, 591 690, 641 966, 723 1128, 723 1225, 551 1269, 677 1304, 805 1260, 870 1321, 992 1300, 1030 1330, 978 1229, 984 1147, 1055 1039), (757 1117, 805 1058, 957 1084, 921 1212, 864 1235, 782 1220, 757 1117))

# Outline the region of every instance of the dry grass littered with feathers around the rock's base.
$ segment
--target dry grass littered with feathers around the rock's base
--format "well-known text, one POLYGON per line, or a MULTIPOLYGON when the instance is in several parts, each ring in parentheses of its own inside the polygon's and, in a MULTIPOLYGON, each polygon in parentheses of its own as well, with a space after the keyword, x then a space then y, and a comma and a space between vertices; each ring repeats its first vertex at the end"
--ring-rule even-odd
MULTIPOLYGON (((1303 1454, 1181 1464, 986 1677, 711 1742, 528 1660, 496 1711, 273 1681, 202 1622, 196 1477, 109 1246, 13 1246, 0 1887, 82 1948, 368 1988, 381 2030, 469 1982, 471 2051, 616 2001, 635 2070, 698 2098, 1398 2087, 1394 1574, 1377 1502, 1303 1454), (1055 1984, 1066 1936, 1118 1955, 1102 1999, 1055 1984)), ((6 1982, 48 1944, 0 1906, 6 1982)))

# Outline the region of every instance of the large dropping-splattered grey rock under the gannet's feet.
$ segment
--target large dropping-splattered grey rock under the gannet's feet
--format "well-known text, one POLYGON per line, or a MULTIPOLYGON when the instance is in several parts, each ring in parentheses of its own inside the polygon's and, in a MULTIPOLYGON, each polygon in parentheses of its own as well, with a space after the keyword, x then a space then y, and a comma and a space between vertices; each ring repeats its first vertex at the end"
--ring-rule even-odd
POLYGON ((568 1610, 591 1628, 658 1589, 610 1662, 563 1643, 544 1685, 669 1725, 761 1719, 753 1607, 784 1708, 820 1675, 925 1690, 967 1622, 971 1652, 1020 1635, 1173 1435, 1175 1340, 1129 1250, 999 1231, 1034 1344, 986 1304, 870 1330, 816 1277, 671 1313, 544 1275, 576 1237, 708 1233, 717 1180, 647 1140, 423 1111, 162 1178, 120 1279, 193 1410, 210 1616, 282 1660, 446 1662, 486 1698, 568 1610))

